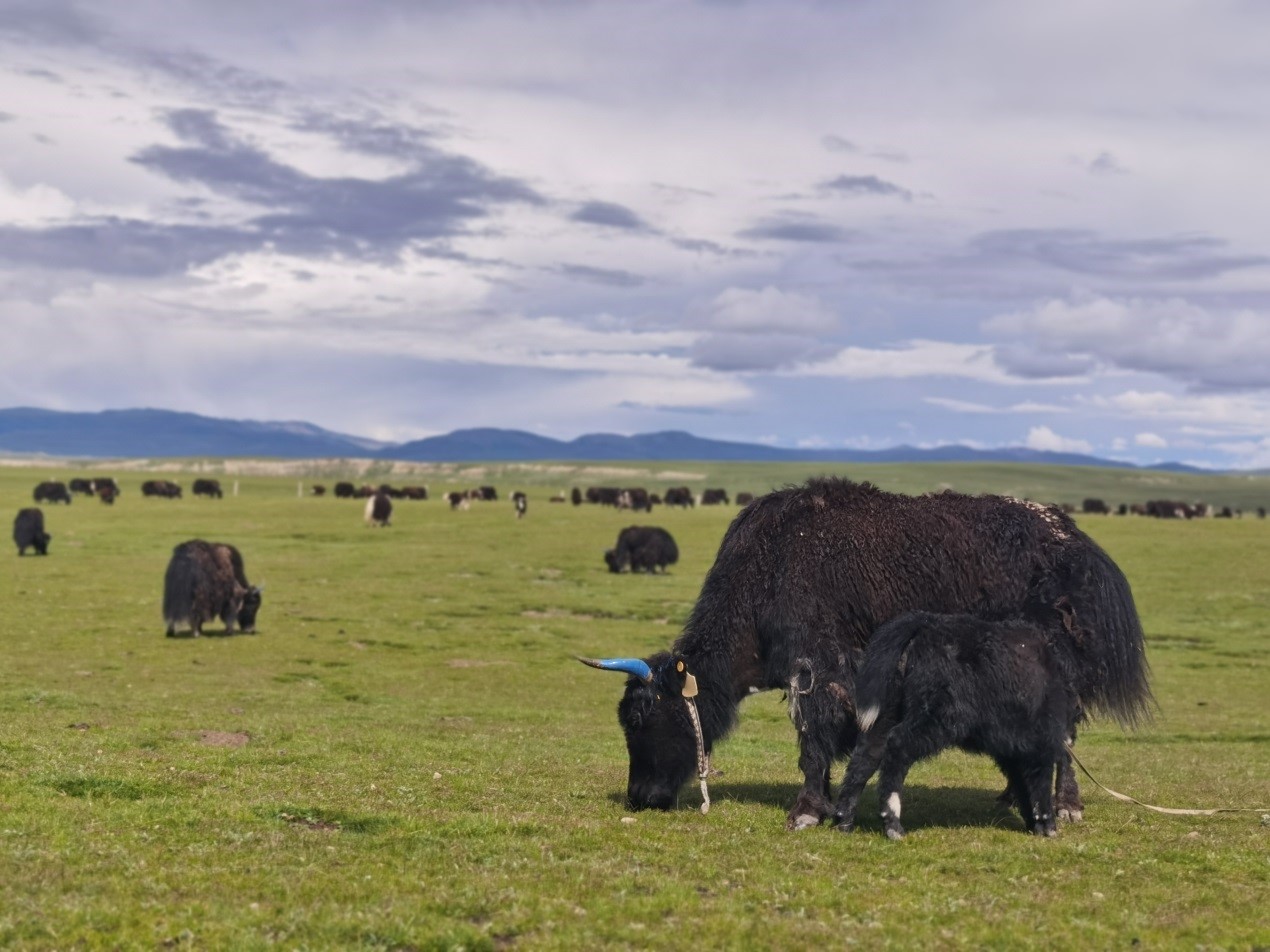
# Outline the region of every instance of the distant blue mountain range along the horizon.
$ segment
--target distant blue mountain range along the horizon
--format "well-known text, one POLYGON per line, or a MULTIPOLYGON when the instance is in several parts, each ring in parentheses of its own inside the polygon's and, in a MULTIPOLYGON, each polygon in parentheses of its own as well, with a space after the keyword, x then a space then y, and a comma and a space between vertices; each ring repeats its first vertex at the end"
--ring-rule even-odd
MULTIPOLYGON (((64 457, 279 457, 290 459, 358 457, 415 462, 527 462, 535 459, 695 459, 744 462, 1013 462, 1133 468, 1132 463, 1082 453, 1053 453, 1026 447, 973 449, 786 449, 759 443, 705 439, 682 430, 621 437, 588 433, 570 440, 525 430, 466 429, 409 443, 334 433, 311 423, 222 420, 171 410, 103 410, 62 413, 13 407, 0 410, 0 453, 64 457)), ((1147 467, 1201 472, 1184 463, 1147 467)))

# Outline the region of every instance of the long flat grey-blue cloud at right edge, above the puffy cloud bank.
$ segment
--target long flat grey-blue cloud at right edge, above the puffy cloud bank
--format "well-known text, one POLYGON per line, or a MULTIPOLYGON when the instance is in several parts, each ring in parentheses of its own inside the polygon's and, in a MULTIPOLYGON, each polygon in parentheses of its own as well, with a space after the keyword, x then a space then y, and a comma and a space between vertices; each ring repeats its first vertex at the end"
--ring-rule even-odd
POLYGON ((974 258, 998 265, 1024 260, 1114 278, 1196 281, 1270 264, 1265 255, 1223 254, 1226 246, 1204 235, 1118 240, 1076 228, 989 231, 970 241, 974 258))

